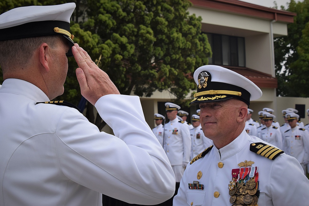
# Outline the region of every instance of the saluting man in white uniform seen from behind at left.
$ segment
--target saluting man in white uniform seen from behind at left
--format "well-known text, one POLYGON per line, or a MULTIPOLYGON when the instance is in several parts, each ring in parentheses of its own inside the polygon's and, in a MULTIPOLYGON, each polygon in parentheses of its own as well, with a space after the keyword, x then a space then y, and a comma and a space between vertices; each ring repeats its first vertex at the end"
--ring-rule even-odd
MULTIPOLYGON (((175 190, 138 96, 120 95, 70 33, 75 3, 0 15, 0 205, 102 205, 102 194, 159 204, 175 190), (68 58, 81 95, 113 129, 99 131, 64 92, 68 58)), ((70 71, 71 72, 71 71, 70 71)))

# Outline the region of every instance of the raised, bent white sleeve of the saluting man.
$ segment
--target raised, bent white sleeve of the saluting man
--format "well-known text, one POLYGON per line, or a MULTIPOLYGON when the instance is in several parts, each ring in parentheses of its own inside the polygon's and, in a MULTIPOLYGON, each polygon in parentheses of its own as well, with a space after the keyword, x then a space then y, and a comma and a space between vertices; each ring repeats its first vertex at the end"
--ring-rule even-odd
POLYGON ((106 95, 95 107, 115 136, 99 132, 78 111, 66 109, 56 131, 63 174, 128 203, 159 204, 168 200, 175 191, 175 175, 145 121, 139 97, 106 95))

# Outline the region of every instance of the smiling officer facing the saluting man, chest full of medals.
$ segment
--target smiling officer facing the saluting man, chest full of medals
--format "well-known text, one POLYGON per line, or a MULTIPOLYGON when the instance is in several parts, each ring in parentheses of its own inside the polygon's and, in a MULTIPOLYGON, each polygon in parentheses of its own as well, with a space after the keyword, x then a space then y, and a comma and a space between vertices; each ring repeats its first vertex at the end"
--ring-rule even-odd
POLYGON ((173 206, 307 203, 309 180, 299 162, 244 131, 250 100, 259 99, 261 90, 215 65, 199 67, 193 78, 197 93, 190 105, 199 105, 203 132, 214 146, 188 164, 173 206))

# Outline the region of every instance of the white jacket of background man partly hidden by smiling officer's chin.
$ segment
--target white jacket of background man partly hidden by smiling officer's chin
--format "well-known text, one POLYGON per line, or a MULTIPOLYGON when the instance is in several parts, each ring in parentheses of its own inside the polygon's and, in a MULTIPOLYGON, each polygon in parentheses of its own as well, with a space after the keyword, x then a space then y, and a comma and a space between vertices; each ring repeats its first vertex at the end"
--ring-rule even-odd
POLYGON ((212 140, 205 137, 201 124, 191 129, 190 135, 191 135, 190 160, 192 160, 199 153, 203 152, 204 149, 214 144, 212 140))

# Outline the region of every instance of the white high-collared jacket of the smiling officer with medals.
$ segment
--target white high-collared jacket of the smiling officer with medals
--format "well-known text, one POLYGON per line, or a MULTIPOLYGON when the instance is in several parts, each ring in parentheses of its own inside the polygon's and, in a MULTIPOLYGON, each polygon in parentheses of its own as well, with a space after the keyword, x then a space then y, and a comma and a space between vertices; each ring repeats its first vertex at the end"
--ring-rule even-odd
POLYGON ((232 180, 231 171, 239 168, 238 164, 245 160, 254 162, 252 167, 258 167, 259 206, 307 203, 309 180, 303 174, 299 162, 285 153, 271 160, 250 151, 250 145, 257 142, 266 143, 243 131, 230 144, 221 149, 214 146, 204 157, 188 164, 173 206, 231 206, 228 188, 232 180), (223 163, 222 168, 219 163, 223 163), (197 179, 199 171, 201 179, 197 179), (203 184, 204 189, 189 189, 188 183, 192 184, 193 181, 199 181, 198 184, 203 184), (218 196, 215 197, 214 194, 218 196))

